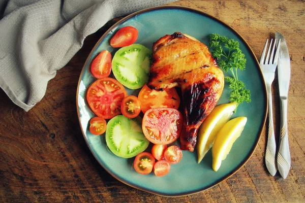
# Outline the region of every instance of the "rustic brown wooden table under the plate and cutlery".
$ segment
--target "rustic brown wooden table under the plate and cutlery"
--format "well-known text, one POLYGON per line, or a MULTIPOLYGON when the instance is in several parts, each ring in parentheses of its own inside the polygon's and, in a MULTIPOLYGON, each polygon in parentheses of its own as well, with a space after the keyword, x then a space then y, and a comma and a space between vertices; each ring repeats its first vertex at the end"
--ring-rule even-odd
MULTIPOLYGON (((236 174, 198 194, 162 197, 129 187, 110 176, 85 144, 76 113, 82 66, 103 33, 89 36, 81 50, 48 83, 44 98, 25 112, 0 90, 1 202, 301 202, 305 201, 305 2, 178 1, 237 30, 260 59, 265 40, 280 31, 291 57, 288 132, 291 170, 287 179, 269 175, 264 164, 266 130, 250 160, 236 174)), ((278 81, 273 107, 279 109, 278 81)), ((280 115, 275 115, 279 134, 280 115)))

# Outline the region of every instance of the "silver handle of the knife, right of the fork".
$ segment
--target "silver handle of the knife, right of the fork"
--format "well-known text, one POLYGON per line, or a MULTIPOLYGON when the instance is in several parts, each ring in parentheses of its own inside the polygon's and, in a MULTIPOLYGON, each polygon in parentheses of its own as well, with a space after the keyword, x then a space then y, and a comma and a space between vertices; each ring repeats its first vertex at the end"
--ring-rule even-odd
POLYGON ((281 98, 281 136, 279 141, 278 168, 281 176, 285 179, 290 170, 290 151, 287 128, 287 98, 281 98))

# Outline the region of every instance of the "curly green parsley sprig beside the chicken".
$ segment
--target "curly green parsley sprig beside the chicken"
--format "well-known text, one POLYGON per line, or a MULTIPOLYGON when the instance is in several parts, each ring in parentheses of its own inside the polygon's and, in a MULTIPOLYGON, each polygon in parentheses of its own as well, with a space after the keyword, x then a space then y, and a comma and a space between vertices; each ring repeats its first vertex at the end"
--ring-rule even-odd
POLYGON ((251 93, 246 89, 245 83, 238 80, 237 70, 246 69, 245 54, 239 48, 238 41, 229 39, 216 33, 210 35, 210 47, 213 47, 211 54, 217 57, 218 66, 224 71, 230 71, 233 77, 225 77, 225 81, 229 82, 230 101, 236 102, 236 109, 243 101, 251 102, 251 93))

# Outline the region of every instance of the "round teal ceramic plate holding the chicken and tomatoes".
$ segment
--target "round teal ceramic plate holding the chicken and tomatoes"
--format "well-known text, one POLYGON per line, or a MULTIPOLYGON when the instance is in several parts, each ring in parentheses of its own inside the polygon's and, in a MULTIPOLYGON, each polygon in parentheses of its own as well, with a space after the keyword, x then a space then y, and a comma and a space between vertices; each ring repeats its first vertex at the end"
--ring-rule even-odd
MULTIPOLYGON (((229 74, 229 73, 228 73, 229 74)), ((225 74, 226 76, 228 74, 225 74)), ((228 75, 229 76, 229 75, 228 75)), ((137 94, 139 90, 128 90, 129 94, 137 94)), ((131 14, 113 25, 97 42, 89 54, 80 75, 77 89, 77 112, 84 139, 98 162, 117 180, 140 190, 162 196, 182 196, 201 192, 226 180, 236 173, 251 157, 258 145, 267 114, 267 93, 259 63, 246 41, 231 27, 220 20, 201 11, 180 6, 162 6, 142 10, 131 14), (245 82, 252 93, 252 102, 238 106, 233 117, 246 116, 248 122, 241 136, 234 143, 229 155, 222 162, 218 172, 211 168, 212 158, 208 152, 204 159, 197 163, 197 152, 184 151, 178 164, 171 165, 171 171, 164 177, 156 177, 154 173, 140 175, 134 170, 134 158, 124 159, 115 156, 106 145, 105 136, 94 136, 88 130, 90 118, 95 114, 86 103, 86 89, 96 79, 90 74, 92 60, 102 50, 114 55, 117 49, 109 45, 113 33, 124 26, 133 26, 139 30, 136 43, 147 48, 153 46, 159 38, 176 31, 187 33, 208 45, 211 33, 239 41, 245 53, 247 65, 245 71, 238 73, 238 78, 245 82)), ((225 86, 219 104, 228 103, 229 90, 225 86)), ((147 149, 149 151, 149 149, 147 149)))

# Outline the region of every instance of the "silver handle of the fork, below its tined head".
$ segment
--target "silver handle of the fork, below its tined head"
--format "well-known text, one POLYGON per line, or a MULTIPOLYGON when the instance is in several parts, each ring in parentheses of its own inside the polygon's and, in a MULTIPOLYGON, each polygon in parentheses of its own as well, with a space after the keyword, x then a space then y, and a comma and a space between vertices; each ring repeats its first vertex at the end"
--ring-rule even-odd
POLYGON ((276 167, 276 138, 275 131, 273 129, 273 113, 272 113, 272 95, 271 95, 271 85, 267 85, 268 92, 268 116, 269 116, 269 126, 268 126, 268 139, 267 148, 265 152, 265 163, 269 173, 275 176, 277 173, 276 167))

